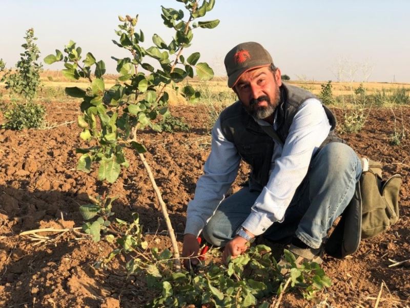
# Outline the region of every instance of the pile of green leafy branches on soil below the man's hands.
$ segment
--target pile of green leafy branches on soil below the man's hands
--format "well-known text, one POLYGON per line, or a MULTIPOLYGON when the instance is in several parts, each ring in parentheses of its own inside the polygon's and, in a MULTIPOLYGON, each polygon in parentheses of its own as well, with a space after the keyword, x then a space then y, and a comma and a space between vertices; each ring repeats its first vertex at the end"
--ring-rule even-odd
POLYGON ((264 300, 283 292, 286 280, 307 299, 315 298, 317 291, 330 286, 331 280, 324 275, 317 263, 304 263, 299 268, 295 257, 285 250, 289 259, 290 274, 282 276, 280 267, 265 245, 250 247, 247 253, 230 260, 228 266, 213 262, 196 268, 196 273, 172 273, 147 277, 161 294, 148 305, 150 307, 181 307, 189 304, 211 304, 219 307, 269 307, 264 300))

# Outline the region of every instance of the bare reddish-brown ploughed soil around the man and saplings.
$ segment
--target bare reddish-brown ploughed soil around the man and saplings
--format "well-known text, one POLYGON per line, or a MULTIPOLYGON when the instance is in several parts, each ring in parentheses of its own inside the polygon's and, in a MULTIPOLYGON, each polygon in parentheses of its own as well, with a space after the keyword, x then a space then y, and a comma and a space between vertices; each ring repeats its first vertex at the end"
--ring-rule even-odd
MULTIPOLYGON (((49 123, 77 119, 77 102, 46 107, 49 123)), ((341 121, 342 110, 335 111, 341 121)), ((208 119, 200 106, 173 106, 172 112, 185 117, 190 132, 148 131, 141 138, 146 140, 147 160, 181 241, 187 202, 210 150, 208 119)), ((410 109, 403 108, 407 128, 409 120, 410 109)), ((401 128, 401 119, 396 125, 401 128)), ((36 228, 81 226, 78 206, 89 202, 89 195, 107 190, 106 183, 96 180, 96 170, 89 175, 76 170, 75 148, 84 146, 79 131, 76 123, 48 130, 0 130, 0 307, 139 307, 152 296, 144 277, 127 278, 122 259, 104 271, 92 267, 110 252, 104 241, 93 243, 66 233, 51 244, 34 245, 18 235, 36 228)), ((360 155, 382 161, 385 177, 402 175, 401 219, 384 234, 363 240, 353 256, 325 257, 325 272, 333 280, 321 295, 328 306, 373 307, 382 281, 386 287, 379 307, 410 305, 410 268, 388 267, 389 258, 410 258, 410 142, 407 138, 392 146, 388 138, 393 132, 391 110, 373 109, 362 131, 342 135, 360 155)), ((113 210, 125 220, 137 211, 146 232, 165 230, 141 162, 132 153, 129 159, 131 166, 112 187, 112 195, 119 196, 113 210)), ((247 170, 241 167, 234 190, 245 180, 247 170)), ((157 246, 171 246, 167 237, 158 238, 157 246)), ((282 303, 284 307, 313 305, 296 292, 286 294, 282 303)))

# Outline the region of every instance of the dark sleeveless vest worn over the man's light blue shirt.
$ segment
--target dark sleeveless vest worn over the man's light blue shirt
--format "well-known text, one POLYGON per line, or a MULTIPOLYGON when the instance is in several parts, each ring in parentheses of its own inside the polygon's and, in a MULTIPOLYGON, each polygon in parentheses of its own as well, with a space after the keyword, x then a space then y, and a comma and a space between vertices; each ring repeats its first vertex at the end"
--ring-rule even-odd
MULTIPOLYGON (((277 134, 284 141, 299 106, 307 99, 316 98, 309 91, 282 83, 280 87, 281 101, 276 109, 277 134)), ((332 128, 329 136, 320 147, 329 142, 343 142, 334 132, 336 118, 332 111, 323 106, 332 128)), ((240 101, 235 102, 221 112, 222 133, 227 140, 233 142, 242 160, 252 167, 250 187, 261 190, 268 183, 274 142, 255 122, 240 101)))

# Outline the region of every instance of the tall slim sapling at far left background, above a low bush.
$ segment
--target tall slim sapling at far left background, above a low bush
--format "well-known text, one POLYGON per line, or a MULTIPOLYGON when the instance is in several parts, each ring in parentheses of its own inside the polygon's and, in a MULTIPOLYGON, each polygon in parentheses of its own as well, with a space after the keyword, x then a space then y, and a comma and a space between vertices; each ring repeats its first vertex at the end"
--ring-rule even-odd
MULTIPOLYGON (((40 51, 34 43, 37 40, 37 37, 34 36, 34 30, 28 29, 24 38, 26 43, 22 47, 25 51, 20 53, 20 61, 17 62, 15 71, 11 69, 5 71, 1 81, 6 83, 6 89, 32 101, 40 86, 40 72, 43 71, 43 64, 37 63, 40 51)), ((0 63, 0 67, 3 67, 4 70, 5 64, 0 63)))

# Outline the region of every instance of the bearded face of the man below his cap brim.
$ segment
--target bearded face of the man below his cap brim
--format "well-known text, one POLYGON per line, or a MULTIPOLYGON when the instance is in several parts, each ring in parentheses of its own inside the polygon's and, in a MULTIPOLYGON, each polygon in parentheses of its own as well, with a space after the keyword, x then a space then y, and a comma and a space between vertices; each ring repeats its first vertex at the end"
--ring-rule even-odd
POLYGON ((268 66, 244 72, 235 85, 239 100, 256 119, 267 119, 280 101, 280 70, 273 73, 268 66))

